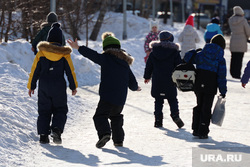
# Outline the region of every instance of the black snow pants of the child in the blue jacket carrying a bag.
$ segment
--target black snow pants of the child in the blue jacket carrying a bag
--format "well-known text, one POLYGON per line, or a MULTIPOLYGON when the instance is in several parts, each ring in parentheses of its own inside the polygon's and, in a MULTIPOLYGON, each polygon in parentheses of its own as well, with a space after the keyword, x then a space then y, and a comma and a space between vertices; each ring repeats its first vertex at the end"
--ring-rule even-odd
POLYGON ((195 133, 204 136, 209 133, 214 94, 195 92, 195 95, 197 106, 193 108, 192 129, 195 133))

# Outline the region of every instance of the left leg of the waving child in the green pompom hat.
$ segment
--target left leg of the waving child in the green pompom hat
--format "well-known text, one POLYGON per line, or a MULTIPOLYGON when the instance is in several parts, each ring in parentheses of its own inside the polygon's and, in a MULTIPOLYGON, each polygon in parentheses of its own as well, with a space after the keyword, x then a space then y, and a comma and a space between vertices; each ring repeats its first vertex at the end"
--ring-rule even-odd
POLYGON ((101 139, 106 134, 111 134, 110 124, 109 124, 109 113, 111 110, 111 104, 100 100, 93 116, 93 120, 95 123, 95 128, 97 130, 97 134, 99 139, 101 139))

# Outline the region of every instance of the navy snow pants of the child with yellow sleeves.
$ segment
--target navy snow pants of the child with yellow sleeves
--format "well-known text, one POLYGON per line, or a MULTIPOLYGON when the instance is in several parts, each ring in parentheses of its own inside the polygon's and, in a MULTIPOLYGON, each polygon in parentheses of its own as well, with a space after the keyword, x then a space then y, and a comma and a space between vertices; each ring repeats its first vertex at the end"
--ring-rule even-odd
POLYGON ((51 96, 38 90, 38 134, 49 135, 51 129, 57 127, 63 132, 67 120, 68 106, 67 94, 51 96))

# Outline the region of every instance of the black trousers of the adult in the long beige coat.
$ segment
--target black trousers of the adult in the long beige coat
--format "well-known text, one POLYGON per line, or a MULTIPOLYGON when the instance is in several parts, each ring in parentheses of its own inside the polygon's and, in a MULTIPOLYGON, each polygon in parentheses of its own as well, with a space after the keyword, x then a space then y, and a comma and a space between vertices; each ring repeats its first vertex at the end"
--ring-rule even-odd
POLYGON ((241 78, 241 67, 244 52, 231 52, 230 74, 233 78, 241 78))

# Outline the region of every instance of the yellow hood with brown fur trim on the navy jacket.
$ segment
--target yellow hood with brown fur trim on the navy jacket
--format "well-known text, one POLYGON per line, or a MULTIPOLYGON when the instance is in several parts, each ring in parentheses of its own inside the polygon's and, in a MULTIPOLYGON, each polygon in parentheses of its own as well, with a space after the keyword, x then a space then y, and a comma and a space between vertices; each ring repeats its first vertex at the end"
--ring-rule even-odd
POLYGON ((37 47, 39 52, 51 61, 58 61, 72 52, 69 46, 57 46, 46 41, 39 42, 37 47))

